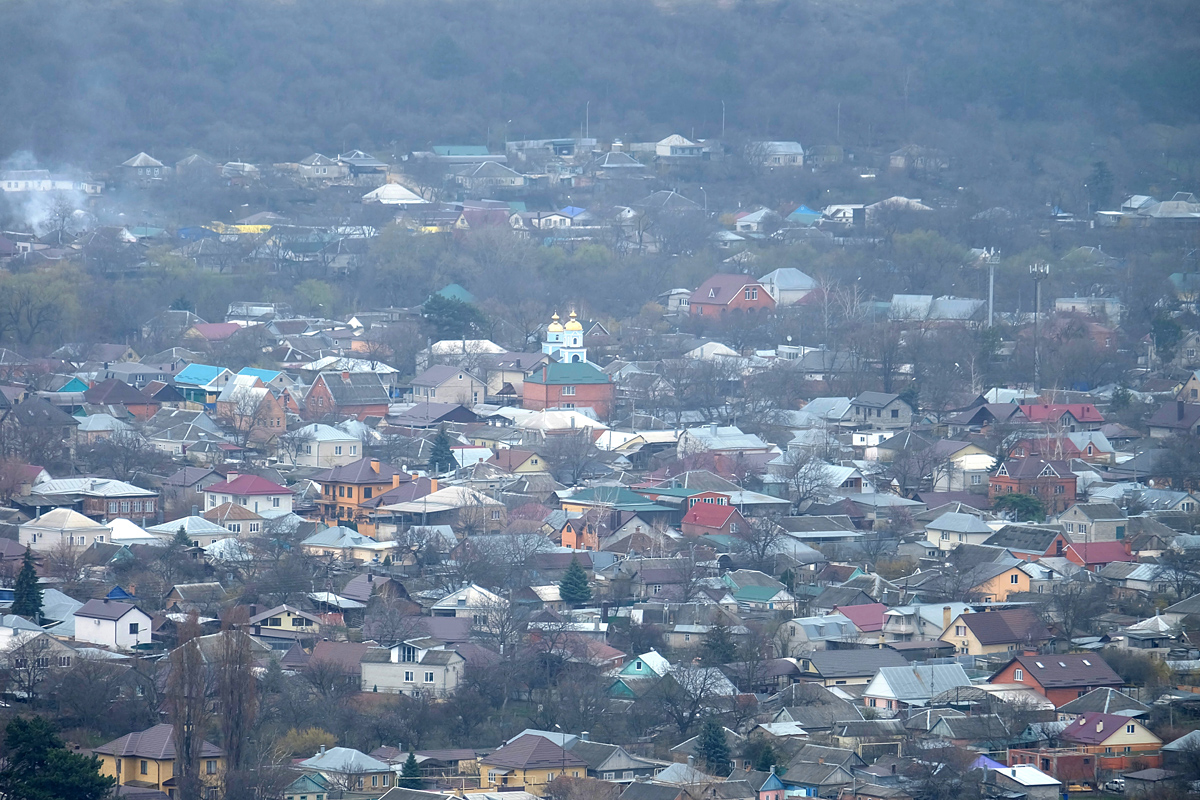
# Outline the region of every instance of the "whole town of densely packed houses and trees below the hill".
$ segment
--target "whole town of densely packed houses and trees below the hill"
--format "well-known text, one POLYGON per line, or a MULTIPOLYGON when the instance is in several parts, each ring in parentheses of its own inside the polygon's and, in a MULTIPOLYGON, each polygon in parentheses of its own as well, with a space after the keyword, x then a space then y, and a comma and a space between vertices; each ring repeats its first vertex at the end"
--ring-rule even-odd
POLYGON ((586 134, 0 173, 0 792, 1194 795, 1200 200, 586 134))

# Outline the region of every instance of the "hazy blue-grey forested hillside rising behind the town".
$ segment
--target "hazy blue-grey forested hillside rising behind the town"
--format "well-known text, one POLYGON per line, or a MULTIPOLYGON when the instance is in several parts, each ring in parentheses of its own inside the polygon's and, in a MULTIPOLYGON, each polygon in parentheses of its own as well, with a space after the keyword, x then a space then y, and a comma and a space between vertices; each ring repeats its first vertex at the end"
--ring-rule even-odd
MULTIPOLYGON (((0 158, 299 158, 578 133, 1189 152, 1200 4, 11 0, 0 158), (840 106, 840 127, 839 127, 840 106)), ((1128 161, 1123 161, 1128 160, 1128 161)))

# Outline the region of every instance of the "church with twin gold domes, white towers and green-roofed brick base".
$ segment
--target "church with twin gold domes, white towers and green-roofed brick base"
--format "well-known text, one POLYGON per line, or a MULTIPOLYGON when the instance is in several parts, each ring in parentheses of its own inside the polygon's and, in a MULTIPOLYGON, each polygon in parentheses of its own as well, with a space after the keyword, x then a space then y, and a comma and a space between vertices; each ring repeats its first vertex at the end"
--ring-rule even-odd
POLYGON ((565 325, 557 313, 551 318, 541 351, 554 361, 526 378, 522 408, 534 411, 590 408, 600 419, 612 414, 616 386, 612 378, 588 361, 583 325, 574 311, 565 325))

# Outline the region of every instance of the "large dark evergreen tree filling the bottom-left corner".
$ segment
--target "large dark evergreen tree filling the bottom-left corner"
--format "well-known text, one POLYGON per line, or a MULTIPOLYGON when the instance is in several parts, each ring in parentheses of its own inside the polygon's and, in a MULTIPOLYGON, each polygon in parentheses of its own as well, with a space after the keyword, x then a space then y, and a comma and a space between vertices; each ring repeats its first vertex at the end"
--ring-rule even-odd
POLYGON ((100 800, 113 787, 113 778, 100 774, 98 758, 68 751, 41 717, 13 718, 5 744, 0 795, 8 800, 100 800))

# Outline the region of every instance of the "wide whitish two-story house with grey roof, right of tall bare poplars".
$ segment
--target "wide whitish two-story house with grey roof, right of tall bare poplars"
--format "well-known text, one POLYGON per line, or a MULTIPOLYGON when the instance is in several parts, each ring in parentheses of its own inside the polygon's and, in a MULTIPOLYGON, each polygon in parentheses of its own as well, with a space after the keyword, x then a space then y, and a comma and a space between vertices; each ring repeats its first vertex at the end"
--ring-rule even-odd
POLYGON ((362 691, 444 698, 458 687, 464 666, 466 658, 439 639, 371 648, 361 662, 362 691))

